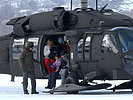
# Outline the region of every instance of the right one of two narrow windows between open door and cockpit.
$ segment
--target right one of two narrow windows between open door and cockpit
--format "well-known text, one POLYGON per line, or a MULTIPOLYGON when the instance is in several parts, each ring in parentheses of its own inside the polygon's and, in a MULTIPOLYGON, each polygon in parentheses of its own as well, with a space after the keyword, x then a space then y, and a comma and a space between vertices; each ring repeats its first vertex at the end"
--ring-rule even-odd
POLYGON ((91 41, 91 37, 88 36, 86 38, 86 41, 85 41, 85 58, 89 58, 89 54, 90 54, 90 41, 91 41))

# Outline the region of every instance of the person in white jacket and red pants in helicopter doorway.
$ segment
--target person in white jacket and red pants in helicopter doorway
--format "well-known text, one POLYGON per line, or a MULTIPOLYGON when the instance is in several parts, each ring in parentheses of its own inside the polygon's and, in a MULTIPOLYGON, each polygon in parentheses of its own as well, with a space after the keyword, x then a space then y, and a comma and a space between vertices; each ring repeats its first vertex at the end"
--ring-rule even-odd
POLYGON ((52 72, 54 71, 54 68, 52 68, 52 70, 51 70, 49 64, 55 62, 53 59, 51 59, 51 58, 49 57, 50 54, 51 54, 50 49, 51 49, 52 45, 53 45, 53 41, 49 39, 49 40, 47 41, 47 45, 44 47, 44 56, 45 56, 44 62, 45 62, 45 65, 46 65, 46 67, 47 67, 47 70, 48 70, 48 73, 49 73, 49 74, 51 73, 51 71, 52 71, 52 72))

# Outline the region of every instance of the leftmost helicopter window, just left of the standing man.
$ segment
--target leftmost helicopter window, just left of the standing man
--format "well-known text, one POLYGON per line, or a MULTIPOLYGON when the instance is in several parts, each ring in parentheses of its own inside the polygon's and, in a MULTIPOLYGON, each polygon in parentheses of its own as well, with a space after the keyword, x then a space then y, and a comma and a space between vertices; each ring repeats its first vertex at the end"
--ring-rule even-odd
POLYGON ((13 59, 19 59, 20 53, 23 50, 24 38, 22 39, 14 39, 13 42, 13 59))

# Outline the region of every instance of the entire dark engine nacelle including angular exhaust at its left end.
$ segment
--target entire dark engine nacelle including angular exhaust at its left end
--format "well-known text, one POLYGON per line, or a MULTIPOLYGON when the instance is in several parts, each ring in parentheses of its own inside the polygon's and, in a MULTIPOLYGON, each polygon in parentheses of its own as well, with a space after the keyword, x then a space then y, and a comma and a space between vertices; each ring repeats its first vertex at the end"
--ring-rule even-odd
POLYGON ((76 24, 77 16, 64 9, 15 18, 7 22, 7 25, 13 25, 14 34, 18 36, 50 29, 64 31, 76 24))

